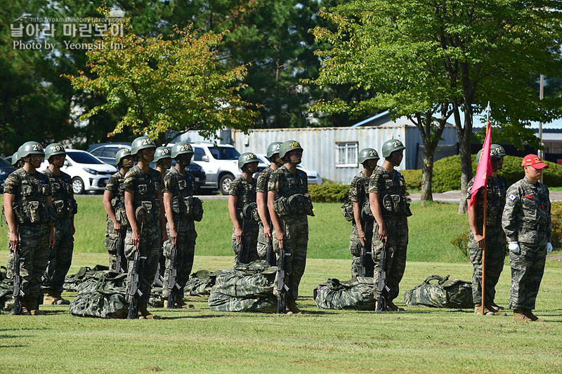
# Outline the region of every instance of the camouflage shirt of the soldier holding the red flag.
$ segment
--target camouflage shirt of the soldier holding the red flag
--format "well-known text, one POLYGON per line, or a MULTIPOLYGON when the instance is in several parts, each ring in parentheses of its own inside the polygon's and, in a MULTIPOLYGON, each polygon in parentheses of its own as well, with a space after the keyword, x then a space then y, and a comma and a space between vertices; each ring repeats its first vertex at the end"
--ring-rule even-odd
MULTIPOLYGON (((476 178, 476 177, 475 177, 476 178)), ((470 200, 474 178, 466 187, 466 199, 470 200)), ((502 176, 488 178, 488 192, 486 192, 486 229, 499 231, 502 229, 502 214, 504 213, 507 182, 502 176)), ((484 189, 481 187, 476 192, 476 225, 481 228, 484 222, 484 189)))

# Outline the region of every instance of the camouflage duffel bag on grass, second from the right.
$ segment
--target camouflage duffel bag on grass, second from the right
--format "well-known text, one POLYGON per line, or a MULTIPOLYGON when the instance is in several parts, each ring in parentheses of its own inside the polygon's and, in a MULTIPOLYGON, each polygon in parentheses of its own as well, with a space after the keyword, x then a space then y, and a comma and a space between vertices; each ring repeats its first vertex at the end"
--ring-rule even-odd
POLYGON ((374 310, 373 279, 358 276, 349 281, 328 279, 313 292, 320 309, 374 310))

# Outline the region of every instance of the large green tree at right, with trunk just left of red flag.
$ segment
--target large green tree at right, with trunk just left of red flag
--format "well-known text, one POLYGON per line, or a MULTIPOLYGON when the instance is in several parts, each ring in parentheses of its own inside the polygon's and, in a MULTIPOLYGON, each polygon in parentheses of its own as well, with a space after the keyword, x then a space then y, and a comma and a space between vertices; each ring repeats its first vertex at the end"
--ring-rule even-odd
MULTIPOLYGON (((336 32, 316 30, 342 50, 334 63, 332 55, 325 53, 322 69, 334 70, 332 83, 353 79, 374 86, 377 97, 320 102, 317 107, 361 111, 379 106, 403 113, 433 112, 439 107, 443 113, 446 107, 457 127, 462 196, 466 196, 472 173, 473 112, 481 112, 490 101, 493 124, 515 144, 536 143, 526 127, 530 121, 561 116, 560 98, 540 102, 532 87, 532 74, 537 72, 560 76, 561 60, 553 52, 562 31, 556 8, 560 8, 558 1, 548 0, 342 4, 325 13, 338 25, 336 32), (390 89, 393 84, 398 89, 390 89)), ((466 199, 461 199, 459 213, 465 211, 466 199)))

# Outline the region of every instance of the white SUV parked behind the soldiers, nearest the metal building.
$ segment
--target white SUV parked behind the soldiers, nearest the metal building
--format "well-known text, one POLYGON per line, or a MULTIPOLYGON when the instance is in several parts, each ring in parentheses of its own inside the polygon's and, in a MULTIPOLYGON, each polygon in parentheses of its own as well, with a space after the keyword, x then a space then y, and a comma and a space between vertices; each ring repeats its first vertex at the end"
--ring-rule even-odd
POLYGON ((211 142, 190 143, 195 151, 193 161, 203 168, 207 180, 202 187, 218 189, 223 195, 228 195, 230 183, 242 175, 238 168, 238 152, 235 147, 228 144, 214 145, 211 142))

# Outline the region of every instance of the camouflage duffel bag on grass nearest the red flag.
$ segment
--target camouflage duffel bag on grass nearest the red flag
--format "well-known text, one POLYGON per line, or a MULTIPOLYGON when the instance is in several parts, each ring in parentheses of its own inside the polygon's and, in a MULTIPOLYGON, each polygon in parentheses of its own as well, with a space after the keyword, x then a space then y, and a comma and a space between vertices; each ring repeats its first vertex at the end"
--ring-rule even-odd
POLYGON ((460 279, 449 279, 449 274, 428 276, 424 283, 404 293, 408 307, 433 307, 452 309, 471 309, 472 283, 460 279), (431 283, 431 281, 438 281, 431 283))

